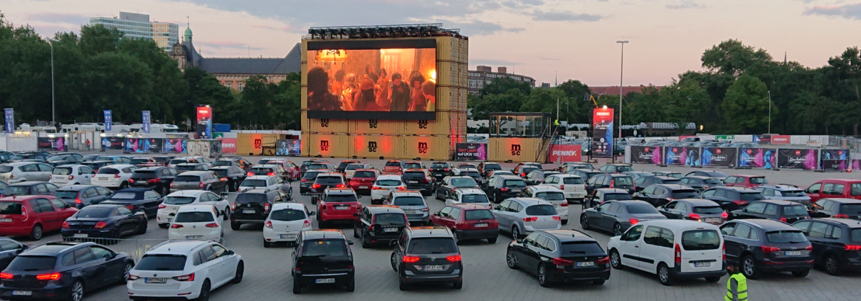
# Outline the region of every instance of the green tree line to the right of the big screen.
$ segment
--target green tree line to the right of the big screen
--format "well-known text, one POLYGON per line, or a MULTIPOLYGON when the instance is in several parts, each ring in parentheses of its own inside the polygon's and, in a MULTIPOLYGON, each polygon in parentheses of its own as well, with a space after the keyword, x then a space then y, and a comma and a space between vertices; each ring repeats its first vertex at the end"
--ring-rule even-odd
MULTIPOLYGON (((662 87, 645 87, 623 96, 623 124, 695 122, 702 132, 757 134, 771 132, 858 136, 861 124, 861 52, 849 47, 817 68, 777 61, 760 48, 726 40, 703 52, 703 71, 687 71, 662 87)), ((589 87, 568 80, 551 89, 531 88, 498 78, 470 96, 475 120, 489 112, 548 112, 559 120, 588 124, 589 87)), ((618 110, 619 96, 600 95, 598 106, 618 110)), ((618 111, 616 111, 618 112, 618 111)))

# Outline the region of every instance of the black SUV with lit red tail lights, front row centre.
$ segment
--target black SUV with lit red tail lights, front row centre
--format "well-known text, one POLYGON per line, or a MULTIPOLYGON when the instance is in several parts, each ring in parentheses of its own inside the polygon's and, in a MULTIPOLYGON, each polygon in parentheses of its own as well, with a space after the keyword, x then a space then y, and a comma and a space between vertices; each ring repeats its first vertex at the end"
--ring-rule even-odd
POLYGON ((455 289, 463 287, 461 250, 446 227, 405 228, 392 252, 392 268, 398 273, 398 285, 421 282, 449 282, 455 289))

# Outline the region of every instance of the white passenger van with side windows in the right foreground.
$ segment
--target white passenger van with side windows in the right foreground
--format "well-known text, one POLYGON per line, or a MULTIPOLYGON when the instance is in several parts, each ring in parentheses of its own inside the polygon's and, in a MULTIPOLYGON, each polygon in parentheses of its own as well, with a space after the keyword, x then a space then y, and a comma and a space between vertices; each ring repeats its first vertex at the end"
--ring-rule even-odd
POLYGON ((657 273, 660 284, 676 279, 721 280, 727 273, 723 237, 714 224, 690 220, 647 220, 607 243, 610 265, 657 273))

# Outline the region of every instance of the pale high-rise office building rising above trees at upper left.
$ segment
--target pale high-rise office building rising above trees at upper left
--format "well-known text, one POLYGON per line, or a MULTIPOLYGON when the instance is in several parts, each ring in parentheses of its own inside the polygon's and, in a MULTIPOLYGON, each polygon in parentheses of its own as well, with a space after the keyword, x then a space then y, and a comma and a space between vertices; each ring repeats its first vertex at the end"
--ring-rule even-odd
POLYGON ((150 22, 150 15, 120 12, 119 17, 97 16, 90 18, 90 25, 116 28, 130 39, 154 40, 166 52, 172 51, 179 41, 179 25, 168 22, 150 22))

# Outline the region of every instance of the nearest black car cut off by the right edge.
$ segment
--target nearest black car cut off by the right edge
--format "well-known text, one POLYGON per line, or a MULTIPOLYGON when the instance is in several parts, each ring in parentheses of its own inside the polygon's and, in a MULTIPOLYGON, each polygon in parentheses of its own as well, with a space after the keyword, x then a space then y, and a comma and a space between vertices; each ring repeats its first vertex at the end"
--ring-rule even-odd
POLYGON ((815 218, 792 224, 813 244, 814 262, 825 272, 839 275, 861 270, 861 221, 815 218))

